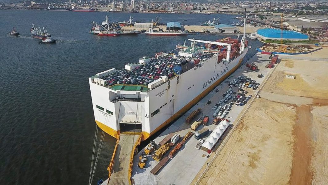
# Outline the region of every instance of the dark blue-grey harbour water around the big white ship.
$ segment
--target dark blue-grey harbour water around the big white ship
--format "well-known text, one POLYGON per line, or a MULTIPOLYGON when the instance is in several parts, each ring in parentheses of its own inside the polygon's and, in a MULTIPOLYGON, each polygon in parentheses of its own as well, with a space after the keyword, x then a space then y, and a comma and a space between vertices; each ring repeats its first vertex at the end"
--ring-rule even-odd
MULTIPOLYGON (((89 34, 90 22, 127 20, 128 13, 0 11, 0 184, 88 184, 95 122, 88 77, 142 56, 174 49, 184 39, 215 40, 222 36, 147 35, 99 37, 89 34), (47 27, 58 43, 37 44, 31 24, 47 27), (12 27, 22 35, 7 36, 12 27)), ((201 24, 236 15, 133 14, 135 20, 201 24), (183 21, 187 20, 187 21, 183 21)), ((251 51, 261 45, 250 41, 251 51)), ((99 132, 100 135, 100 132, 99 132)), ((98 138, 99 140, 99 138, 98 138)), ((93 184, 108 176, 115 139, 105 137, 93 184)))

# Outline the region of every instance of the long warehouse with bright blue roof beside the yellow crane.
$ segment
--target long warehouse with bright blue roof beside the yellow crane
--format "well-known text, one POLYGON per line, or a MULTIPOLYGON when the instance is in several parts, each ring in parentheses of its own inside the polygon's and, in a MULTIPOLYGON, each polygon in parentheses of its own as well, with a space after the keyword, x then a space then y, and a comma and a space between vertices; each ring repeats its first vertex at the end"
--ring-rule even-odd
MULTIPOLYGON (((257 36, 261 39, 279 40, 281 38, 281 30, 278 29, 260 29, 257 30, 257 36)), ((282 38, 284 40, 307 40, 308 35, 301 34, 295 31, 283 30, 282 38)))

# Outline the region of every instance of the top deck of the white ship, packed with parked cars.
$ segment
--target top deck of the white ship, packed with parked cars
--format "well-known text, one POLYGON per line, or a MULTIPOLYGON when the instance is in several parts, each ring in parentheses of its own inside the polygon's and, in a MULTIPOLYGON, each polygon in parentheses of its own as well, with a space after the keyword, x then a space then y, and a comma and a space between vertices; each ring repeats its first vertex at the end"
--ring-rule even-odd
MULTIPOLYGON (((201 49, 203 47, 196 48, 201 49)), ((199 61, 202 62, 211 58, 215 54, 201 53, 193 58, 190 58, 179 56, 179 51, 180 50, 175 49, 173 51, 163 54, 163 56, 159 58, 151 58, 151 61, 147 64, 132 64, 137 65, 137 67, 135 67, 131 71, 126 69, 119 69, 116 70, 113 74, 102 76, 99 78, 106 80, 107 84, 105 84, 104 86, 113 90, 148 92, 149 89, 147 88, 147 84, 163 76, 167 76, 169 80, 174 78, 176 76, 176 71, 174 67, 180 66, 181 68, 178 74, 182 74, 192 69, 193 67, 200 65, 198 63, 194 63, 195 59, 199 59, 199 61)), ((185 53, 188 53, 188 51, 186 51, 185 53)))

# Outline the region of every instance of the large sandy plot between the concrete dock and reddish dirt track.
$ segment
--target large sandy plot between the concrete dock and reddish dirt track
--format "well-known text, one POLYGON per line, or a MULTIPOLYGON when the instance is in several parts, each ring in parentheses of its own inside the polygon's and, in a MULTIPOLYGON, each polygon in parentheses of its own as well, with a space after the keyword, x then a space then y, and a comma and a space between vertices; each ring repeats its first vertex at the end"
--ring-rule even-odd
POLYGON ((292 106, 255 100, 200 184, 286 184, 295 118, 292 106))

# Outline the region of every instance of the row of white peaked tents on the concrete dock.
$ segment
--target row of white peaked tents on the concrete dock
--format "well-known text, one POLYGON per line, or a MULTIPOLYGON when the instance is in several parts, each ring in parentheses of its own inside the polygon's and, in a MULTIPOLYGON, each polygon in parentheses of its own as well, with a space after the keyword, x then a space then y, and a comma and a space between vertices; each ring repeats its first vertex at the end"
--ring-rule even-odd
POLYGON ((229 122, 226 120, 221 121, 217 127, 213 130, 211 135, 205 140, 205 142, 202 144, 202 147, 205 147, 209 150, 212 150, 213 146, 222 136, 223 132, 227 129, 227 127, 230 125, 229 122))

